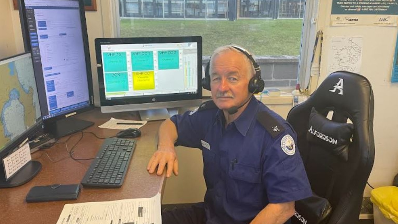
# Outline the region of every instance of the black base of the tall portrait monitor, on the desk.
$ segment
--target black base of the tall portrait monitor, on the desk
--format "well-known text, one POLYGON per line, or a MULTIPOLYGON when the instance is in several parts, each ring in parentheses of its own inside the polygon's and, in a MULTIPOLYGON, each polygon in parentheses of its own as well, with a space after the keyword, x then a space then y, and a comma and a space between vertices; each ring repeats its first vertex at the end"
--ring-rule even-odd
POLYGON ((47 132, 49 132, 55 139, 82 131, 90 126, 94 122, 79 120, 76 118, 64 118, 62 120, 57 120, 54 123, 45 124, 47 132))

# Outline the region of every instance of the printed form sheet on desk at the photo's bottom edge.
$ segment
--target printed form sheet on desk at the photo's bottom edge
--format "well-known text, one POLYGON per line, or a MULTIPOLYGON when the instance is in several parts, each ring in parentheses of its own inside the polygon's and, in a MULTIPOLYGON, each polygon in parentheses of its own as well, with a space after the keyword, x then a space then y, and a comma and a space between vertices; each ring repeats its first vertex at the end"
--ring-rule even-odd
POLYGON ((160 193, 152 198, 65 204, 57 224, 162 224, 160 193))

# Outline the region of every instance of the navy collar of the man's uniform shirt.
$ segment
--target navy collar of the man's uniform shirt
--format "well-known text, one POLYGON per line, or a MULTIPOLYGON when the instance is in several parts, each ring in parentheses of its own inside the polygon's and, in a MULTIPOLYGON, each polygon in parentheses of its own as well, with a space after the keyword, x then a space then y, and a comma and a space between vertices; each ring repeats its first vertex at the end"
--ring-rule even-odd
MULTIPOLYGON (((246 136, 246 133, 250 128, 250 124, 252 124, 253 119, 256 117, 257 110, 258 110, 257 99, 255 96, 252 96, 248 106, 245 108, 242 114, 240 114, 240 116, 232 122, 235 124, 238 132, 240 132, 240 134, 242 134, 243 136, 246 136)), ((220 121, 221 125, 224 125, 225 118, 222 110, 217 111, 217 118, 220 121)))

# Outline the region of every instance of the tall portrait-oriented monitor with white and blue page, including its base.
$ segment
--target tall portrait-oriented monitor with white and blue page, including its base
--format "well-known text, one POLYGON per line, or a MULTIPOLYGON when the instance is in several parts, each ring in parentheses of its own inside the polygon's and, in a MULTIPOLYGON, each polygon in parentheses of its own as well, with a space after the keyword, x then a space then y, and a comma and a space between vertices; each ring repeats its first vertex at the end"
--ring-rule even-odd
POLYGON ((45 128, 59 138, 92 125, 70 118, 94 108, 83 1, 21 0, 20 15, 45 128))

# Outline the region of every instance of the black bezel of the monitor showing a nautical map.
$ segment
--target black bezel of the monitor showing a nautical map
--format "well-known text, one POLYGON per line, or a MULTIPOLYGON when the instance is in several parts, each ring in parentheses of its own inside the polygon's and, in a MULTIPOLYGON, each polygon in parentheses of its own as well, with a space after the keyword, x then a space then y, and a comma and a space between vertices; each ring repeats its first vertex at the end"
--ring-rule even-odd
MULTIPOLYGON (((3 59, 0 59, 0 62, 6 61, 12 58, 20 57, 23 55, 30 55, 32 57, 31 52, 25 52, 25 53, 20 53, 16 55, 12 55, 10 57, 6 57, 3 59)), ((18 145, 20 145, 23 141, 25 141, 27 138, 31 138, 35 136, 39 130, 43 130, 43 120, 40 118, 36 119, 35 124, 30 126, 27 130, 22 132, 18 137, 16 137, 14 140, 10 140, 8 143, 4 145, 4 148, 0 151, 0 165, 3 164, 3 158, 9 155, 10 153, 14 152, 15 149, 18 148, 18 145)))

